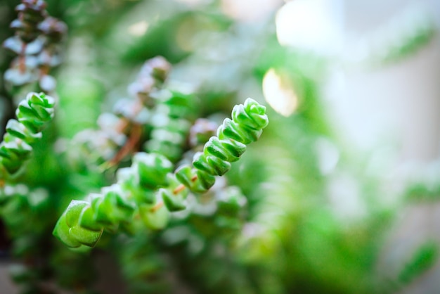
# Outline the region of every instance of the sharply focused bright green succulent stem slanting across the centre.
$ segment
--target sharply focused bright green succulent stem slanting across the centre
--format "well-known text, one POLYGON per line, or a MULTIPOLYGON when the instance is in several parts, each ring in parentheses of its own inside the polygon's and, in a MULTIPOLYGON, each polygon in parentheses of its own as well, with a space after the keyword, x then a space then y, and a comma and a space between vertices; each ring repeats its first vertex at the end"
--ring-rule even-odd
POLYGON ((196 154, 193 167, 174 165, 160 153, 136 153, 131 167, 117 172, 117 183, 90 194, 86 200, 72 200, 53 230, 53 235, 71 248, 93 247, 104 230, 127 228, 135 216, 150 229, 163 229, 169 212, 186 209, 189 191, 202 193, 225 174, 244 153, 246 144, 257 141, 268 124, 266 108, 248 98, 235 106, 232 120, 226 119, 196 154))

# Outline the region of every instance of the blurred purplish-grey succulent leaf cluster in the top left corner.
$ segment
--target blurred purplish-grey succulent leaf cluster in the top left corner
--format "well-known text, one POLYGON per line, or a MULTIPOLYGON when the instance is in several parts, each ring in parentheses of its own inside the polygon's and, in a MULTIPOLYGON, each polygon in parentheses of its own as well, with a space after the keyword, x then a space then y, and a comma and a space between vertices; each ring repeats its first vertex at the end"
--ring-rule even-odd
POLYGON ((42 91, 53 91, 56 82, 48 73, 51 68, 60 65, 60 41, 67 27, 48 15, 43 0, 22 1, 15 11, 18 17, 11 23, 15 34, 6 39, 3 46, 17 57, 4 72, 5 82, 11 91, 34 82, 42 91))

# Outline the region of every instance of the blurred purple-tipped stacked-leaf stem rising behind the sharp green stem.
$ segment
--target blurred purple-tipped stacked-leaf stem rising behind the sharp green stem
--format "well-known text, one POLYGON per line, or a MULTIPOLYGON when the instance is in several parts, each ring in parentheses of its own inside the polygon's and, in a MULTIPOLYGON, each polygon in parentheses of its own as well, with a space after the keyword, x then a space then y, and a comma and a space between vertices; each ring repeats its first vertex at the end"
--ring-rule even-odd
POLYGON ((170 68, 161 56, 147 60, 128 87, 134 99, 119 99, 112 113, 98 117, 98 129, 84 129, 75 135, 70 151, 72 162, 91 169, 109 167, 134 153, 155 113, 157 92, 162 89, 170 68))

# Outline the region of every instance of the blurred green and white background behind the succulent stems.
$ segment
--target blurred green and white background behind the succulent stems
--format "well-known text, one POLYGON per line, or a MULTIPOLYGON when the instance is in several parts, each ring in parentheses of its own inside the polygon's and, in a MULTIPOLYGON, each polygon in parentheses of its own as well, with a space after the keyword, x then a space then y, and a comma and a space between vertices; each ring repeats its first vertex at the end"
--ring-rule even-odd
MULTIPOLYGON (((170 80, 200 97, 205 117, 247 97, 268 108, 261 140, 228 174, 248 202, 228 262, 156 248, 184 260, 165 267, 169 293, 439 293, 439 1, 46 2, 69 27, 53 73, 63 152, 155 56, 173 64, 170 80)), ((0 1, 1 41, 17 4, 0 1)), ((0 52, 3 73, 12 56, 0 52)), ((6 93, 1 84, 2 125, 13 108, 6 93)), ((26 179, 50 187, 57 177, 26 179)), ((0 292, 18 293, 5 256, 0 292)), ((121 265, 108 262, 98 253, 93 287, 125 293, 108 270, 121 265)))

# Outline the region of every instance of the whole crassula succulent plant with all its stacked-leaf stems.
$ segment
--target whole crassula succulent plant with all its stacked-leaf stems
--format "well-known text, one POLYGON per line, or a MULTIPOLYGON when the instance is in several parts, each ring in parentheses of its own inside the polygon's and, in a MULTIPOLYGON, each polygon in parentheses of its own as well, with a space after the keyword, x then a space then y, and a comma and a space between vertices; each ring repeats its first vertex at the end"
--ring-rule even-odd
POLYGON ((22 283, 23 293, 57 293, 60 288, 92 293, 92 275, 82 272, 88 262, 84 250, 99 244, 103 234, 100 248, 106 248, 114 234, 112 242, 127 245, 117 256, 131 292, 147 293, 139 289, 154 286, 167 267, 166 260, 151 265, 151 256, 182 241, 193 254, 200 254, 198 243, 208 244, 198 233, 205 229, 194 219, 205 219, 203 226, 218 231, 225 244, 240 230, 247 200, 221 176, 259 139, 268 124, 266 108, 247 98, 221 124, 200 117, 197 93, 169 82, 172 65, 160 56, 147 60, 127 87, 131 98, 119 99, 112 112, 102 113, 97 129, 84 129, 70 142, 63 139, 67 147, 62 151, 44 154, 67 165, 66 181, 76 173, 110 178, 108 185, 66 206, 69 198, 58 198, 62 187, 26 181, 34 168, 43 173, 51 169, 34 158, 34 146, 41 153, 60 141, 53 118, 63 96, 56 94, 56 78, 49 72, 60 65, 67 27, 45 9, 45 1, 23 0, 11 23, 15 35, 4 41, 15 55, 4 73, 5 89, 17 104, 0 143, 0 215, 12 242, 10 254, 25 260, 11 274, 22 283), (34 164, 27 166, 28 161, 34 164), (54 213, 60 209, 65 212, 54 213), (179 227, 188 234, 181 236, 179 227), (154 241, 159 236, 162 241, 154 241), (56 238, 64 244, 51 240, 56 238), (154 248, 141 253, 130 239, 154 248), (132 259, 131 254, 140 256, 132 259), (60 269, 66 262, 70 271, 60 269))

